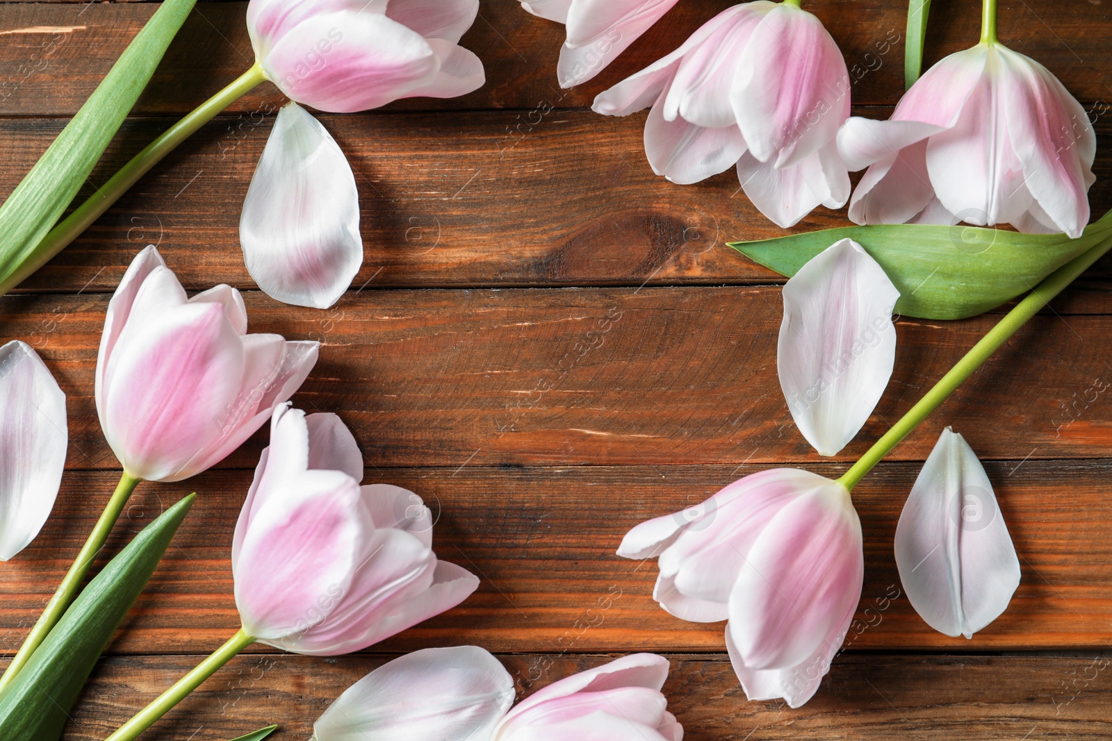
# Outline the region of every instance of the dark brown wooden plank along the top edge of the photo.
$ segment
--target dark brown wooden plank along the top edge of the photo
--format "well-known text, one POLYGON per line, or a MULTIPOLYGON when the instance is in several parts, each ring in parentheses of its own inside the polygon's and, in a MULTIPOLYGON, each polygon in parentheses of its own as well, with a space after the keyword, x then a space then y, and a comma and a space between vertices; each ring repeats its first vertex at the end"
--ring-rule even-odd
MULTIPOLYGON (((517 0, 488 0, 463 39, 464 46, 483 59, 486 87, 458 99, 423 99, 393 108, 585 108, 595 94, 672 51, 699 24, 731 4, 726 0, 679 3, 597 78, 567 92, 556 82, 563 28, 533 18, 517 0)), ((247 69, 254 54, 244 22, 246 6, 199 3, 138 112, 183 113, 247 69)), ((855 80, 854 100, 895 103, 903 92, 906 3, 812 0, 807 8, 823 20, 841 47, 855 80)), ((71 114, 152 12, 152 3, 0 3, 0 31, 76 27, 63 34, 61 43, 48 47, 43 42, 54 34, 4 37, 0 80, 7 82, 3 90, 8 94, 0 101, 0 116, 71 114), (66 84, 58 84, 58 80, 66 80, 66 84)), ((1001 3, 1000 32, 1005 43, 1050 68, 1080 100, 1095 103, 1109 97, 1110 20, 1112 10, 1101 4, 1011 1, 1001 3)), ((927 64, 975 43, 979 27, 977 3, 947 3, 936 9, 929 30, 927 64)), ((245 98, 235 110, 258 110, 280 100, 274 87, 267 86, 245 98)))

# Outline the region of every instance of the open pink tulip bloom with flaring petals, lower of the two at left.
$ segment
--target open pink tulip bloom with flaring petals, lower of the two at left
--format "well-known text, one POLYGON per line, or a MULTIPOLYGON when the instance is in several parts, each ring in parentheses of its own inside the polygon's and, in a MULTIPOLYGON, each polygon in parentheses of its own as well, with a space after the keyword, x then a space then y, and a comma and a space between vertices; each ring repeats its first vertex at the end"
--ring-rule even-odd
POLYGON ((358 651, 478 587, 437 560, 419 497, 361 479, 363 457, 339 418, 275 410, 231 550, 248 635, 297 653, 358 651))

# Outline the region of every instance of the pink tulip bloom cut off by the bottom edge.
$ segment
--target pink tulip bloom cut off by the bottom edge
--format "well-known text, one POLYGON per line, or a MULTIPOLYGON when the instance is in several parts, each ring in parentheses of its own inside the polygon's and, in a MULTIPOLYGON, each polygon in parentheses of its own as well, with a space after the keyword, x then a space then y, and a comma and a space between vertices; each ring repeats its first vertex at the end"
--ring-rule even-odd
POLYGON ((498 723, 490 741, 682 741, 661 693, 668 661, 635 653, 537 690, 498 723))

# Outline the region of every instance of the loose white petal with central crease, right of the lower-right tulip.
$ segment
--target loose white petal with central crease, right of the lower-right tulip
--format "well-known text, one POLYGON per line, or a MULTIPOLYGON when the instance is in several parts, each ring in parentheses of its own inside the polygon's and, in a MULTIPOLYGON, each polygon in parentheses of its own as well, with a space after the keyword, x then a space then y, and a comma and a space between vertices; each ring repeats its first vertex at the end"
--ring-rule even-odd
POLYGON ((1020 584, 1020 560, 992 483, 950 428, 907 497, 895 552, 912 607, 946 635, 972 638, 1000 617, 1020 584))

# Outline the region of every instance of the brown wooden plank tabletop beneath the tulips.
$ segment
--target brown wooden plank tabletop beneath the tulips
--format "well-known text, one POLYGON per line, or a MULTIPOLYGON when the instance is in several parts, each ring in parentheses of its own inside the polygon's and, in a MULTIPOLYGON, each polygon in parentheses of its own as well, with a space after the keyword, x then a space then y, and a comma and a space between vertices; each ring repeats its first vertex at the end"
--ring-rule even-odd
MULTIPOLYGON (((691 187, 652 174, 644 114, 588 110, 594 94, 673 49, 725 1, 683 0, 582 89, 556 86, 559 27, 516 0, 484 0, 464 44, 488 82, 457 100, 321 116, 363 202, 366 262, 331 310, 255 289, 239 209, 282 98, 269 84, 205 127, 81 239, 0 299, 2 339, 39 352, 69 398, 68 470, 39 538, 0 565, 10 655, 118 477, 92 399, 105 308, 132 256, 157 243, 183 284, 245 291, 255 331, 321 339, 297 405, 336 411, 366 481, 419 492, 437 552, 481 578, 459 608, 337 659, 251 650, 149 738, 228 739, 267 722, 306 739, 346 687, 390 655, 475 643, 522 693, 633 651, 672 660, 665 691, 692 741, 805 737, 1112 737, 1112 262, 1034 319, 855 492, 866 573, 858 622, 800 710, 747 702, 723 625, 652 600, 654 564, 614 555, 638 521, 697 503, 774 464, 834 474, 862 453, 995 321, 898 321, 887 394, 833 462, 795 430, 775 372, 782 279, 725 247, 781 233, 732 172, 691 187), (610 320, 599 332, 599 320, 610 320), (589 334, 596 332, 595 334, 589 334), (1106 384, 1106 383, 1105 383, 1106 384), (892 538, 941 429, 982 457, 1023 568, 1007 612, 973 640, 932 631, 900 597, 892 538), (608 605, 608 607, 606 607, 608 605)), ((810 0, 841 44, 856 112, 887 116, 903 90, 905 3, 810 0)), ((245 2, 201 2, 92 180, 250 63, 245 2)), ((62 128, 151 3, 0 4, 0 193, 62 128), (41 28, 46 27, 46 28, 41 28), (51 46, 47 42, 53 40, 51 46)), ((1112 206, 1112 3, 1002 0, 1001 38, 1058 74, 1096 117, 1093 212, 1112 206)), ((980 3, 935 0, 927 61, 973 43, 980 3)), ((798 229, 844 224, 818 209, 798 229)), ((67 739, 102 739, 238 627, 228 554, 260 449, 216 470, 141 484, 106 557, 169 502, 197 504, 73 713, 67 739)), ((147 737, 145 737, 147 738, 147 737)))

